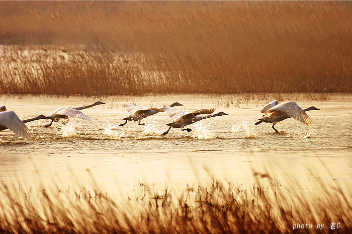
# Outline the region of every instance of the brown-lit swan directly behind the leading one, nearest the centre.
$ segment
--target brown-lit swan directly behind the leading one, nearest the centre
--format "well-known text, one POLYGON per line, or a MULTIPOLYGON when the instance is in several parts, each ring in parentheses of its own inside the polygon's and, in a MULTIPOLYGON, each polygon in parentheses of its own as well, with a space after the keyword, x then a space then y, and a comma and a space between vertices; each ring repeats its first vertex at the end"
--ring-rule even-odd
POLYGON ((200 121, 202 119, 207 119, 215 116, 221 116, 221 115, 228 115, 224 112, 219 112, 217 114, 213 115, 205 115, 205 116, 199 116, 199 115, 204 115, 204 114, 211 114, 215 111, 215 108, 213 109, 201 109, 201 110, 196 110, 188 114, 181 115, 180 117, 172 120, 171 122, 167 123, 166 125, 169 126, 166 132, 162 133, 161 135, 164 136, 170 131, 171 128, 181 128, 182 131, 188 131, 191 132, 192 130, 189 128, 184 129, 185 126, 193 124, 197 121, 200 121))

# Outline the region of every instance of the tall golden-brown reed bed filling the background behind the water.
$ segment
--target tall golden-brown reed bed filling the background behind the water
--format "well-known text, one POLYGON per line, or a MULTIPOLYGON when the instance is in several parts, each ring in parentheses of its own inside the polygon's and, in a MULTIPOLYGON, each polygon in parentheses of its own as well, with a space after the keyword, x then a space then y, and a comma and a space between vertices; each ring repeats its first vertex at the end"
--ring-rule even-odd
POLYGON ((0 93, 351 92, 351 2, 0 2, 0 93))

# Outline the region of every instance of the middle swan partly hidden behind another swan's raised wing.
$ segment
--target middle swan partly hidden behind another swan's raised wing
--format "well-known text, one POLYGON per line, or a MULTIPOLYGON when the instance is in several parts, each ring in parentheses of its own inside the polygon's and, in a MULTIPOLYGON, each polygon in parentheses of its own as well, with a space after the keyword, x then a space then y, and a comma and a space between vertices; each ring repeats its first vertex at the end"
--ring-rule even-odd
MULTIPOLYGON (((174 102, 169 107, 174 107, 174 106, 183 106, 183 105, 178 102, 174 102)), ((144 123, 141 123, 142 119, 147 118, 151 115, 154 115, 158 112, 164 112, 165 106, 162 108, 143 108, 141 106, 127 104, 126 109, 128 112, 130 112, 130 114, 122 118, 122 120, 126 120, 126 122, 123 124, 120 124, 119 126, 124 126, 127 123, 127 121, 138 121, 138 125, 144 125, 144 123)))

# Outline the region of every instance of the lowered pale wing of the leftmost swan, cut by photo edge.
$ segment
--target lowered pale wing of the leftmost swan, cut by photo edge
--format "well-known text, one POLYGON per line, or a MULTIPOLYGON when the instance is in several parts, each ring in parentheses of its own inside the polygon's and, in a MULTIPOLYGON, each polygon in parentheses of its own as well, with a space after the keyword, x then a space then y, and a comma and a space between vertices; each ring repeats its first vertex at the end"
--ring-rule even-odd
POLYGON ((13 111, 0 112, 0 125, 9 128, 27 140, 32 140, 33 134, 13 111))

